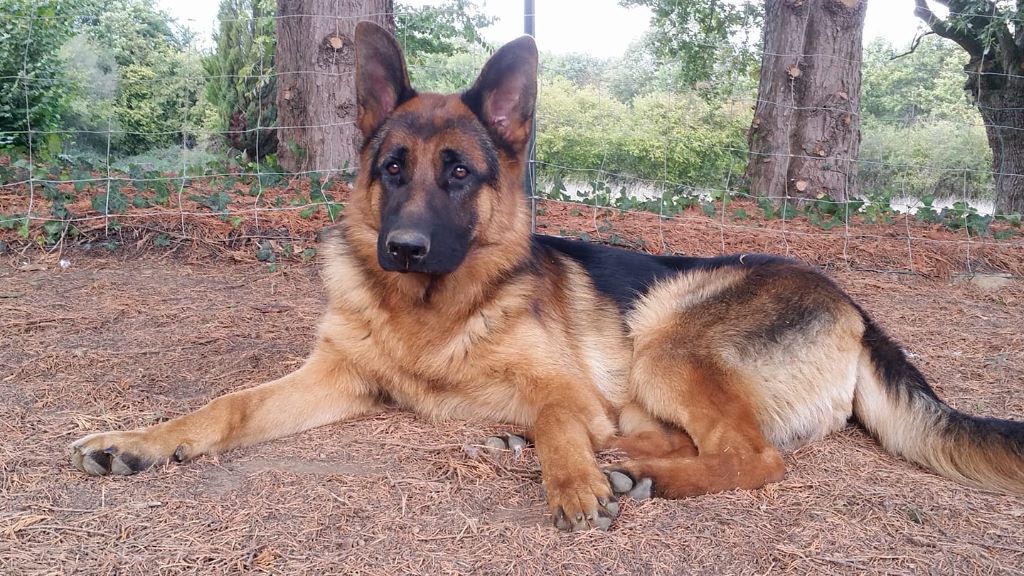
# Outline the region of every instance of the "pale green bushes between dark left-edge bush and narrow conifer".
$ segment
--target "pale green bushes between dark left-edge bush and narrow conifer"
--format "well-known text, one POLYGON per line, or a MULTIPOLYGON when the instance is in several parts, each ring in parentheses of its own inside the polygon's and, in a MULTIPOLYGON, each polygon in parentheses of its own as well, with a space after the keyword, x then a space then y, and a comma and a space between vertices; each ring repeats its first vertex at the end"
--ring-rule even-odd
POLYGON ((144 0, 87 3, 79 14, 61 51, 73 84, 63 119, 71 146, 114 157, 191 146, 206 116, 205 79, 187 34, 144 0))

